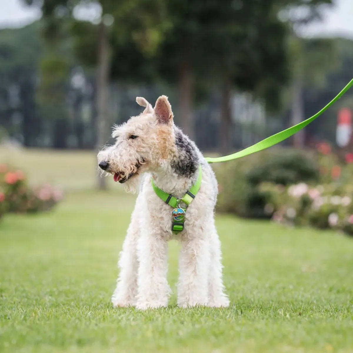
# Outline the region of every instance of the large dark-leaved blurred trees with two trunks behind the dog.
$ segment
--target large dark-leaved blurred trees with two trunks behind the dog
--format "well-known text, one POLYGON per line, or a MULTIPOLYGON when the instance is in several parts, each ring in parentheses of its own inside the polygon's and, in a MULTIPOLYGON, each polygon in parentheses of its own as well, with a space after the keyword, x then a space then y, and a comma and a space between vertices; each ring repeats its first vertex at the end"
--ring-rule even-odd
POLYGON ((319 16, 331 0, 167 0, 171 29, 158 51, 157 69, 179 87, 181 127, 193 137, 191 116, 197 86, 218 84, 222 95, 222 151, 232 148, 232 89, 252 92, 277 108, 289 79, 289 24, 319 16), (300 8, 298 13, 295 11, 300 8), (284 12, 283 20, 279 13, 284 12))

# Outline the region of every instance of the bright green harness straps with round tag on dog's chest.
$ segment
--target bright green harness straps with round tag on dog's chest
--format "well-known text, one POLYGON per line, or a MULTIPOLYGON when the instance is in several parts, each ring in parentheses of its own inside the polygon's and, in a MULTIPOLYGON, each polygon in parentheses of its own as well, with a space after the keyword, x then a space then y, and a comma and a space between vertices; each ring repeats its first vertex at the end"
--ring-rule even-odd
POLYGON ((197 180, 195 181, 195 184, 191 186, 191 188, 186 191, 185 195, 178 199, 174 197, 173 195, 168 194, 167 192, 163 191, 160 189, 151 179, 151 184, 153 187, 153 190, 155 191, 156 195, 162 199, 166 204, 169 206, 173 207, 172 211, 172 217, 173 217, 173 223, 172 223, 172 231, 175 233, 181 232, 184 229, 184 219, 185 219, 185 211, 187 207, 190 205, 192 200, 195 198, 197 192, 200 189, 201 186, 201 181, 202 181, 202 168, 199 166, 198 168, 198 176, 197 180), (181 208, 180 207, 180 202, 184 202, 186 205, 186 208, 181 208))

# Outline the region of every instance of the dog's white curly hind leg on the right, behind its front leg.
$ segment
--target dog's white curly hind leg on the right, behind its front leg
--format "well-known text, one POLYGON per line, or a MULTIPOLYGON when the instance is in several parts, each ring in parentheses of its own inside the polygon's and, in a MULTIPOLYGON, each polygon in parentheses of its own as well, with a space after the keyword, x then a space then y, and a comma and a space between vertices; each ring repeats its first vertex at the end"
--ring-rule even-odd
POLYGON ((229 299, 224 293, 225 288, 222 281, 222 254, 221 254, 221 242, 219 240, 216 227, 213 225, 210 227, 210 267, 208 275, 208 295, 209 295, 209 306, 221 307, 228 306, 229 299))

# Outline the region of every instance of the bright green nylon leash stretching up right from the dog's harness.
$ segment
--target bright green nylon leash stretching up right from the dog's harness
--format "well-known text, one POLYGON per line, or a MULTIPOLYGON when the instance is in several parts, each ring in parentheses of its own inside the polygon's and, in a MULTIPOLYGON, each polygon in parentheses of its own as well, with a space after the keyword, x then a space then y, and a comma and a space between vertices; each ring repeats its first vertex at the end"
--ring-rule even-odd
POLYGON ((270 137, 267 137, 264 140, 256 143, 255 145, 247 147, 244 150, 241 150, 239 152, 233 153, 228 156, 217 157, 217 158, 206 157, 205 160, 208 163, 232 161, 233 159, 245 157, 250 154, 262 151, 266 148, 269 148, 269 147, 285 140, 288 137, 293 136, 295 133, 297 133, 298 131, 303 129, 306 125, 310 124, 313 120, 315 120, 318 116, 320 116, 333 103, 335 103, 337 100, 339 100, 352 86, 353 86, 353 79, 351 79, 351 81, 346 85, 346 87, 343 88, 342 91, 339 94, 337 94, 337 96, 335 98, 333 98, 333 100, 330 103, 328 103, 325 107, 323 107, 318 113, 313 115, 311 118, 306 119, 306 120, 300 122, 299 124, 294 125, 292 127, 289 127, 288 129, 283 130, 281 132, 278 132, 270 137))

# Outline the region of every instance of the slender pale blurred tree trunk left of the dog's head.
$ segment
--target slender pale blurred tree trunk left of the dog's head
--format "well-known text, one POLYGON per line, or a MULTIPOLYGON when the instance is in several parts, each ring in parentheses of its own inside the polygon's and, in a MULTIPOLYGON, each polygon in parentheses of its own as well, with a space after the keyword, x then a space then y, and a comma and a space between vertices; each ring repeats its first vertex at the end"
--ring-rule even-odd
MULTIPOLYGON (((109 43, 107 27, 100 24, 99 48, 98 48, 98 76, 97 76, 97 144, 100 150, 106 143, 108 120, 108 74, 109 74, 109 43)), ((98 174, 98 188, 106 189, 106 179, 98 174)))

